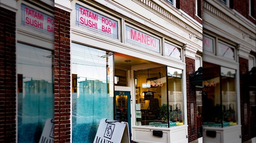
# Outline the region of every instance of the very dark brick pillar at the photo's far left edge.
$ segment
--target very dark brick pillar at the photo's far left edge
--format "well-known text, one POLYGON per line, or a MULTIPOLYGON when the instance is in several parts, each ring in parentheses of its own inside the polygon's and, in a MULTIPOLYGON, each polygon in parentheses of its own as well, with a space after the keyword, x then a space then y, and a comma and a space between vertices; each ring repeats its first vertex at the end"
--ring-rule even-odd
POLYGON ((0 142, 16 139, 16 13, 0 10, 0 142))

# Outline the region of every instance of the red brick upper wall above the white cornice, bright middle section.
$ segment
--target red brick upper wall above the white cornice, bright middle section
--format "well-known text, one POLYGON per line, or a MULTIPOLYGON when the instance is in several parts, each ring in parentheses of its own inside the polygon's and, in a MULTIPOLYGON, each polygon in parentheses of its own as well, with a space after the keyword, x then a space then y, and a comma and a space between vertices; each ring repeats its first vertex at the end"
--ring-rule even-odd
POLYGON ((203 17, 203 0, 197 0, 198 4, 201 5, 201 8, 199 10, 199 17, 196 16, 196 1, 195 0, 176 0, 176 8, 181 9, 186 14, 191 16, 193 19, 195 19, 200 24, 203 24, 202 17, 203 17))

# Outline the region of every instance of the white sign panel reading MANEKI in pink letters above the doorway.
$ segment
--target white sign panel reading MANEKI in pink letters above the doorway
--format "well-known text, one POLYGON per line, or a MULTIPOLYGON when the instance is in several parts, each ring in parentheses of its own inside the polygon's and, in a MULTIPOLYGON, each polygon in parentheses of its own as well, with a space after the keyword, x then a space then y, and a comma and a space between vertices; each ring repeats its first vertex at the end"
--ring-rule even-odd
POLYGON ((126 29, 126 42, 160 53, 159 39, 152 37, 148 34, 145 34, 127 25, 125 29, 126 29))

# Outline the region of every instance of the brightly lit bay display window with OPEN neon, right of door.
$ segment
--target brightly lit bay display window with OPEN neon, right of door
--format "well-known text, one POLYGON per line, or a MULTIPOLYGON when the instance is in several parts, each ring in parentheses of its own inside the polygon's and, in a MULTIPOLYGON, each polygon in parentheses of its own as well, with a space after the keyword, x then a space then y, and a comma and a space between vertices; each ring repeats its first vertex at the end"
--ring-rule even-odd
POLYGON ((137 81, 136 125, 153 127, 183 125, 181 70, 160 67, 138 70, 134 75, 137 81))

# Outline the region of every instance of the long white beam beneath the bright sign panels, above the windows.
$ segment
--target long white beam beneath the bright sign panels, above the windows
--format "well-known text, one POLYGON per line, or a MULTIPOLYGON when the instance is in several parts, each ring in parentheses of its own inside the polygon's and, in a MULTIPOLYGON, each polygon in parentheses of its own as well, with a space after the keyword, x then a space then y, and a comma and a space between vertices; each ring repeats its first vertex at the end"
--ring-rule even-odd
POLYGON ((86 44, 90 43, 89 46, 99 47, 102 49, 106 49, 106 50, 114 51, 118 53, 125 53, 126 55, 130 55, 130 56, 137 56, 145 60, 154 61, 156 63, 161 63, 171 67, 176 67, 178 69, 182 69, 183 68, 182 65, 185 64, 184 62, 181 62, 179 60, 172 60, 172 63, 171 63, 169 58, 161 55, 157 55, 155 54, 155 52, 148 52, 148 51, 145 51, 144 49, 137 48, 128 44, 120 43, 115 40, 106 39, 104 37, 95 35, 93 33, 80 31, 78 29, 75 29, 74 27, 71 27, 71 35, 72 35, 71 41, 76 41, 79 43, 84 43, 84 41, 86 41, 86 44))

